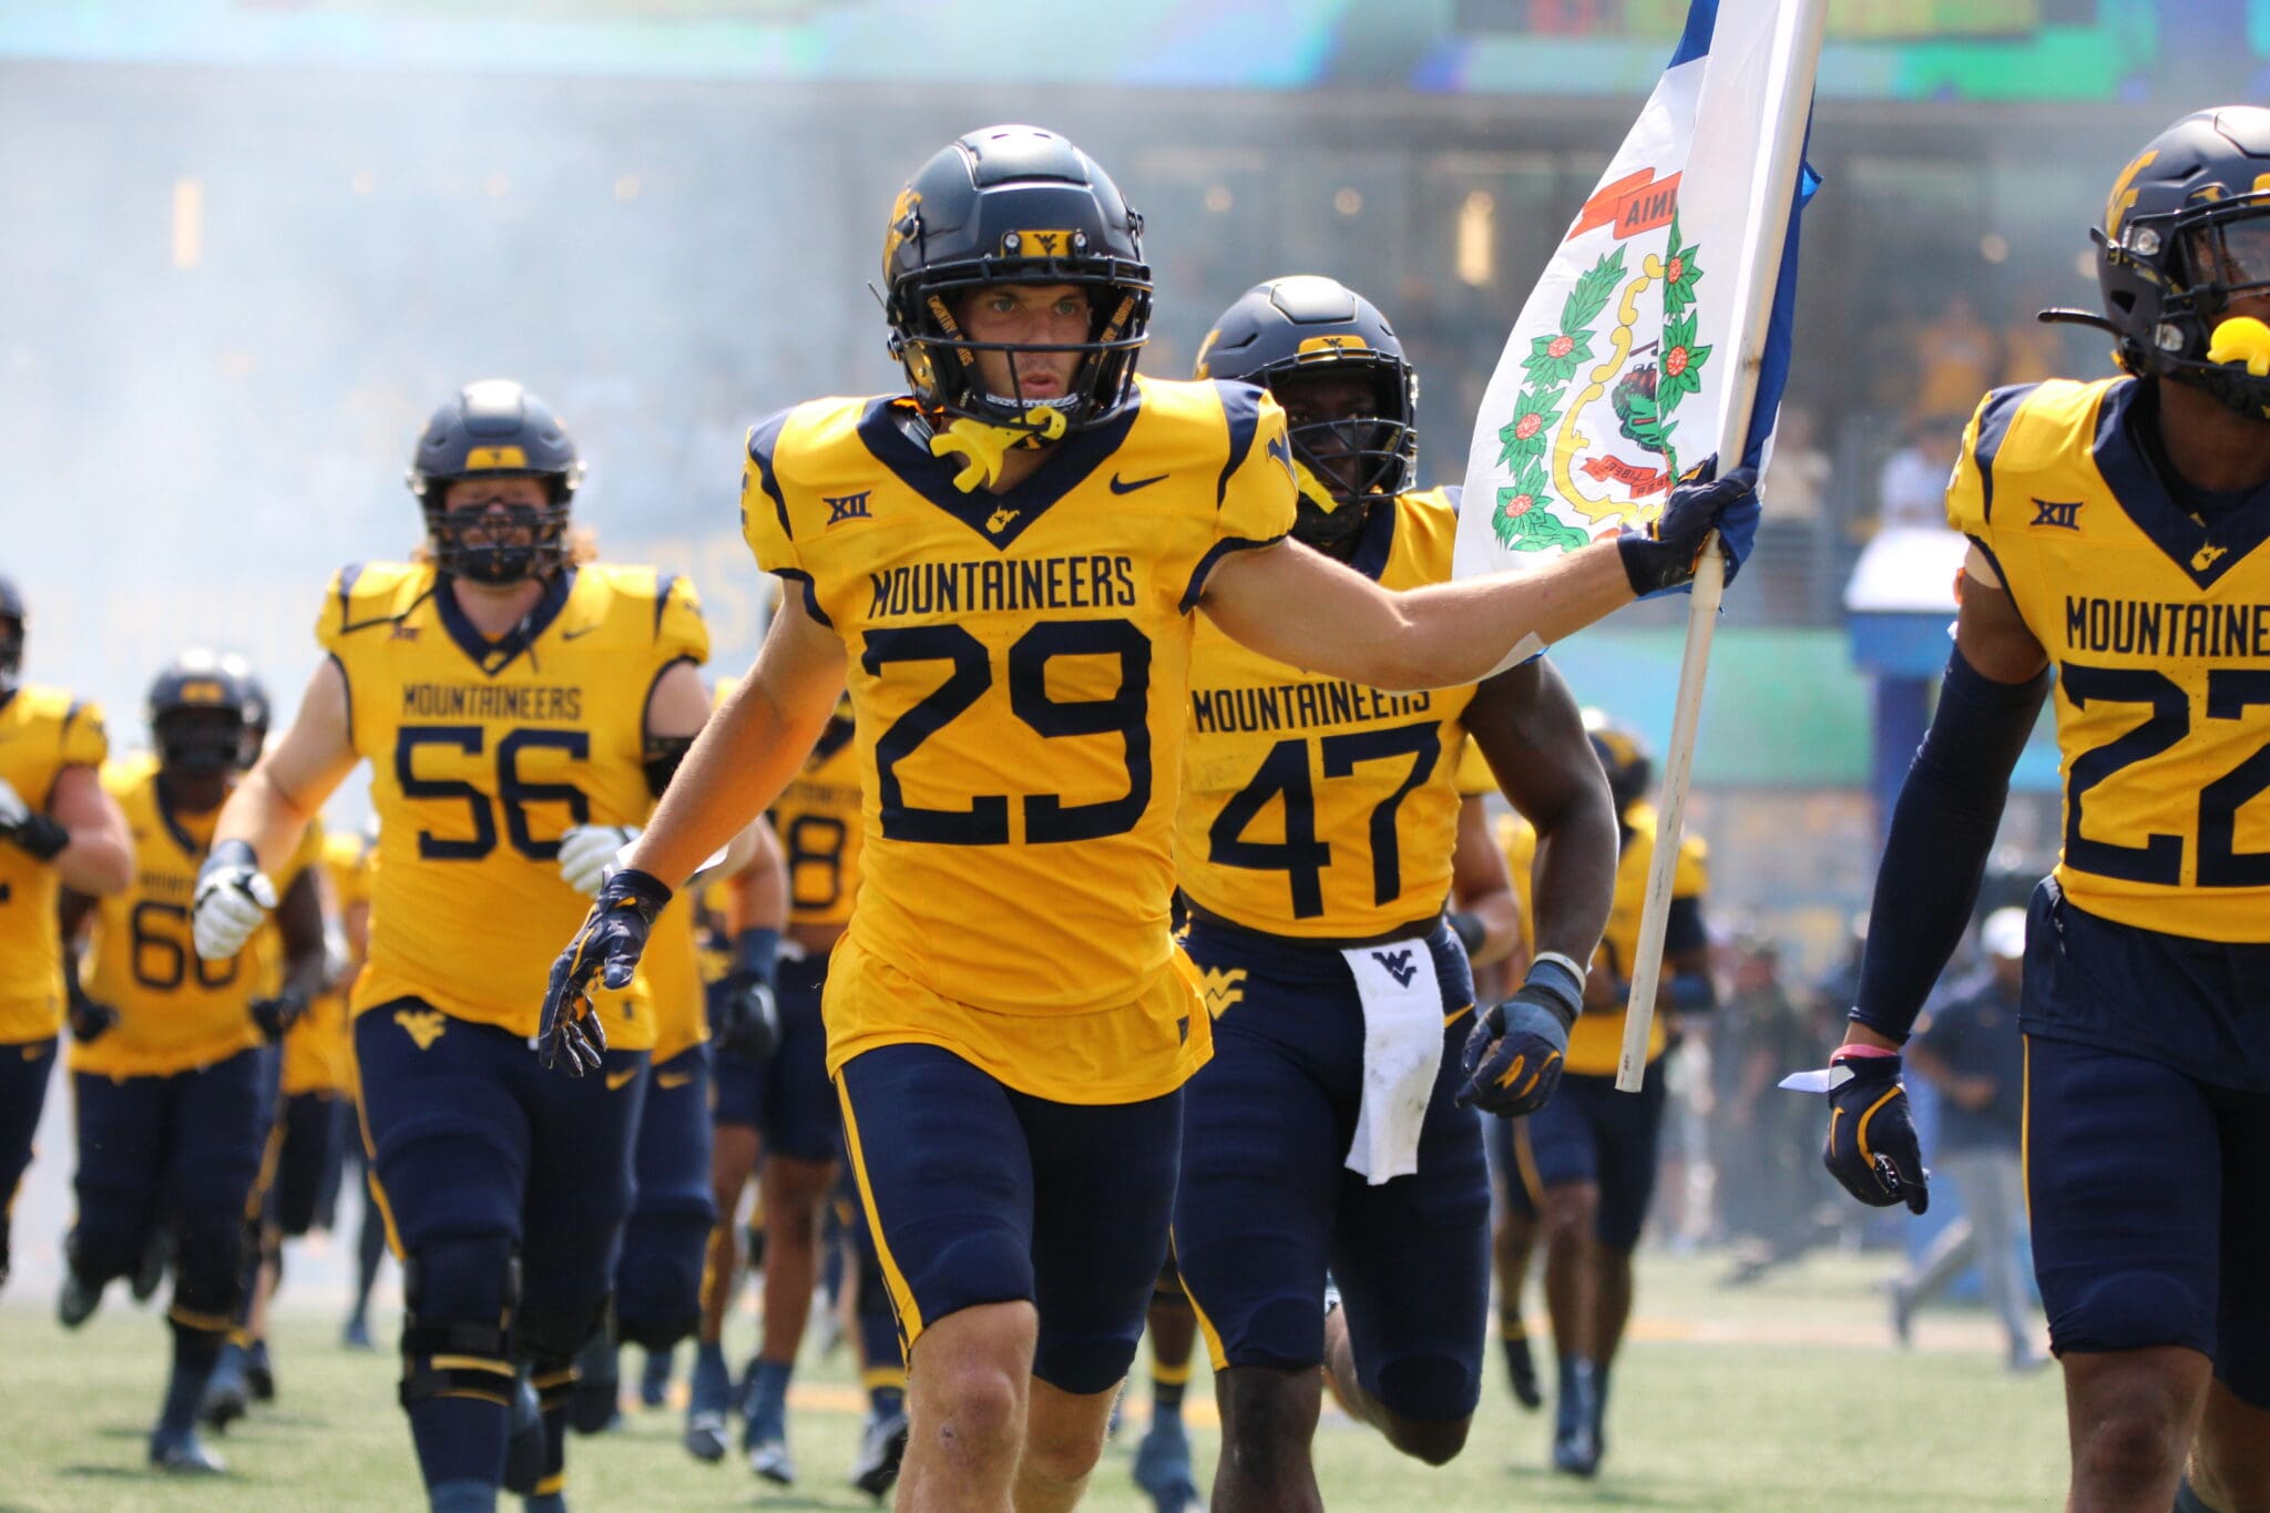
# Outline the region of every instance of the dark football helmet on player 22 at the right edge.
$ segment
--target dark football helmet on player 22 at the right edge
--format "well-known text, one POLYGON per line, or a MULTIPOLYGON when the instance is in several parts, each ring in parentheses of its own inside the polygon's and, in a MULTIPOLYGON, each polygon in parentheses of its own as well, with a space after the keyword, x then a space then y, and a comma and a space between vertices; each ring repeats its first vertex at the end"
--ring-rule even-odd
POLYGON ((2120 365, 2270 420, 2270 377, 2216 358, 2229 302, 2270 293, 2270 109, 2195 111, 2154 136, 2091 238, 2120 365))

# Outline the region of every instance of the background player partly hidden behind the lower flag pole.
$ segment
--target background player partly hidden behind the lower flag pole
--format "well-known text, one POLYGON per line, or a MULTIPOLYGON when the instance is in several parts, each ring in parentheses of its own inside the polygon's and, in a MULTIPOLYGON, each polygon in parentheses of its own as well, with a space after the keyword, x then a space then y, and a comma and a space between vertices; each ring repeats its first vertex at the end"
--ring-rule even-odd
MULTIPOLYGON (((1575 1477, 1598 1472, 1607 1443, 1603 1420, 1609 1366, 1632 1316, 1632 1252, 1639 1248, 1648 1200, 1655 1195, 1664 1123, 1659 1071, 1639 1093, 1616 1091, 1632 955, 1639 948, 1639 912, 1648 896, 1648 869, 1655 864, 1655 810, 1648 805, 1655 764, 1634 730, 1598 710, 1584 710, 1584 728, 1591 733, 1591 746, 1607 771, 1616 803, 1614 907, 1584 982, 1584 1012, 1569 1032, 1559 1093, 1521 1121, 1519 1130, 1514 1125, 1491 1130, 1498 1141, 1498 1170, 1528 1175, 1539 1189, 1546 1309, 1553 1313, 1553 1347, 1559 1356, 1553 1468, 1575 1477)), ((1535 848, 1537 839, 1523 844, 1535 848)), ((1682 1014, 1707 1014, 1716 1005, 1709 980, 1709 932, 1702 919, 1707 887, 1702 862, 1702 842, 1691 835, 1680 837, 1671 916, 1664 928, 1664 973, 1655 998, 1655 1030, 1648 1037, 1650 1066, 1664 1055, 1682 1014)), ((1544 887, 1537 889, 1537 898, 1546 898, 1544 887)), ((1521 1248, 1500 1243, 1500 1257, 1510 1250, 1525 1259, 1521 1248)), ((1521 1268, 1500 1266, 1500 1300, 1519 1307, 1521 1284, 1521 1268)))

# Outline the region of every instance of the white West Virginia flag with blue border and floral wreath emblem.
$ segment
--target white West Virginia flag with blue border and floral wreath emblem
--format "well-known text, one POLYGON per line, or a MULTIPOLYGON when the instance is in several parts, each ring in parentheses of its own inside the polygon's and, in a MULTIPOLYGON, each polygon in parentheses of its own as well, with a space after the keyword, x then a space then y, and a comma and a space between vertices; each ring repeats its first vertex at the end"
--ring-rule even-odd
MULTIPOLYGON (((1671 68, 1569 225, 1489 379, 1466 454, 1457 576, 1523 569, 1643 526, 1671 481, 1718 449, 1750 311, 1771 324, 1743 458, 1764 465, 1789 372, 1798 172, 1786 240, 1755 202, 1775 138, 1811 120, 1811 0, 1693 0, 1671 68), (1782 109, 1793 91, 1796 109, 1782 109)), ((1782 159, 1784 163, 1789 159, 1782 159)), ((1755 531, 1755 524, 1752 524, 1755 531)), ((1739 563, 1748 533, 1730 535, 1739 563)))

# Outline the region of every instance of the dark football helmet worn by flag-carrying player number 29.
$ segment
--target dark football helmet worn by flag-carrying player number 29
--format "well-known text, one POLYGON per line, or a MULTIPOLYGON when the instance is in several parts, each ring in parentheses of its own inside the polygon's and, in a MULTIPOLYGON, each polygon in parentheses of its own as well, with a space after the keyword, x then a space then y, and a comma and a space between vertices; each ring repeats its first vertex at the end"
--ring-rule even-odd
POLYGON ((1092 426, 1126 399, 1151 327, 1151 268, 1142 215, 1085 152, 1040 127, 985 127, 924 163, 890 206, 883 231, 883 318, 908 390, 933 415, 1031 424, 1056 408, 1067 431, 1092 426), (960 295, 990 284, 1076 284, 1087 290, 1081 365, 1062 397, 992 395, 978 352, 1035 347, 972 343, 960 295))

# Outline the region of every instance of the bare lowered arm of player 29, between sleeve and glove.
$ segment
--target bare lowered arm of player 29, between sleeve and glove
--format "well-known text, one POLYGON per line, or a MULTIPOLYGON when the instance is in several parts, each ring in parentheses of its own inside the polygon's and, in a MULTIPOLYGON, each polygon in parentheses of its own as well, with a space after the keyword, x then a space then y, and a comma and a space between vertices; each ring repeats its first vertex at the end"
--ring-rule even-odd
POLYGON ((842 642, 804 610, 781 601, 742 678, 679 764, 638 844, 624 857, 665 887, 679 887, 733 835, 781 796, 819 739, 844 685, 842 642))

